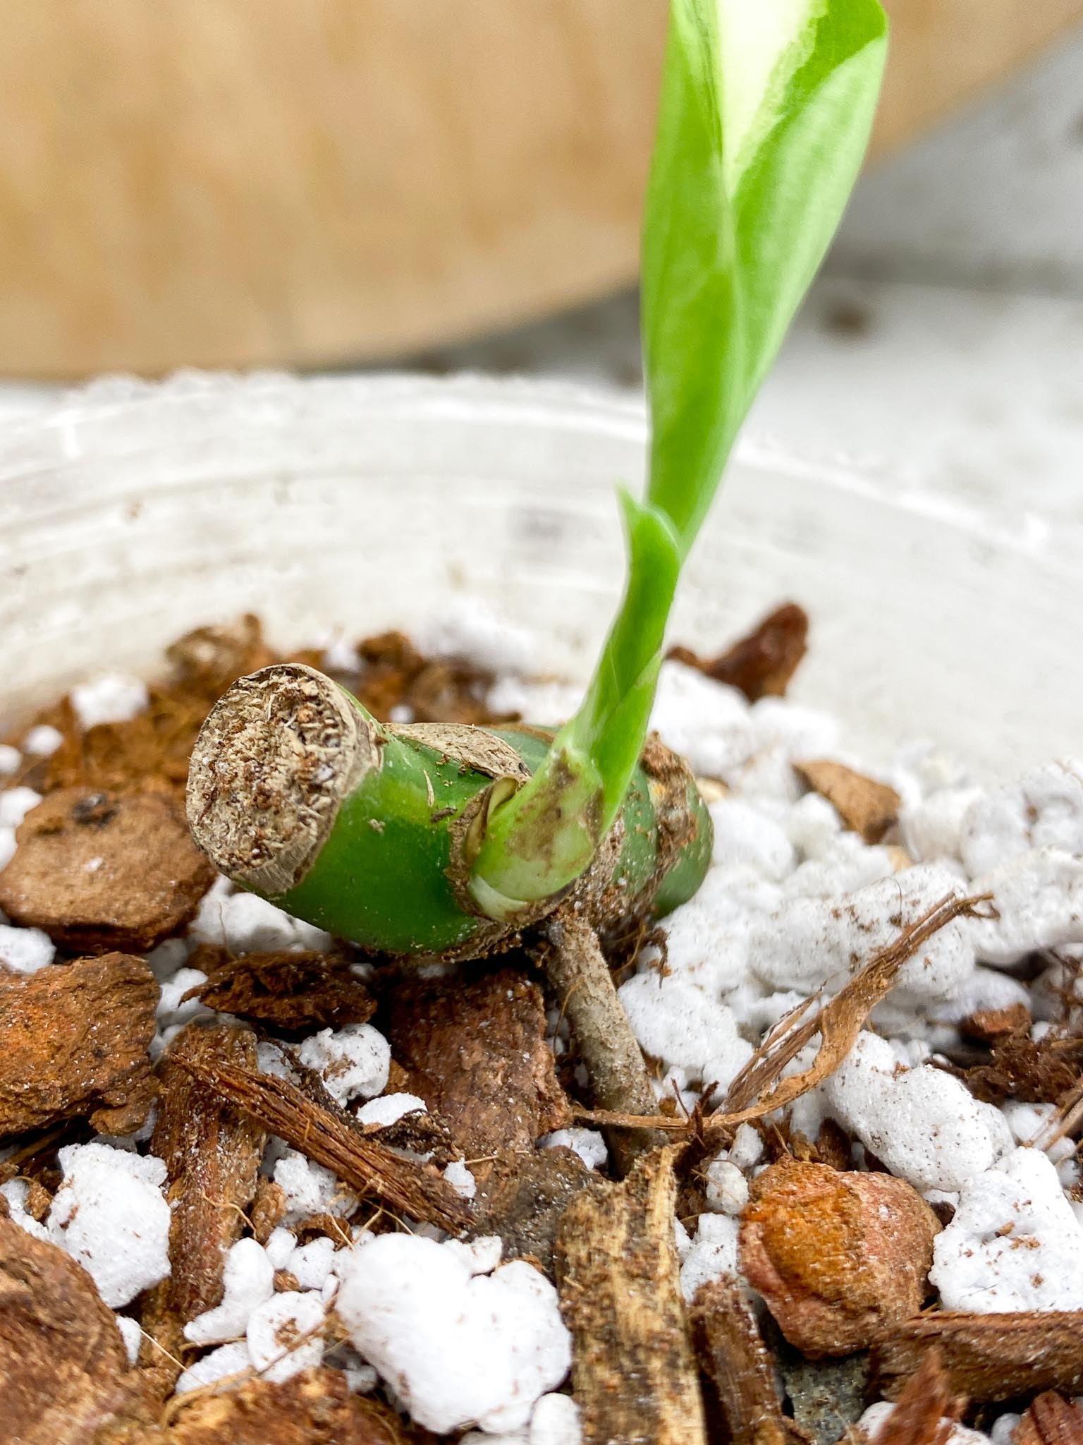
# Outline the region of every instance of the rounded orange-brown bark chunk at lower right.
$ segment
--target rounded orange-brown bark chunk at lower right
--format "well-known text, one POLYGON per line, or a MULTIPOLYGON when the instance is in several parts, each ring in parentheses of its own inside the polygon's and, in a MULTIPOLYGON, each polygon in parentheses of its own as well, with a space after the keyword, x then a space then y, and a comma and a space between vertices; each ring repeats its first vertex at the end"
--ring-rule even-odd
POLYGON ((752 1182, 741 1267, 803 1355, 845 1355, 918 1312, 939 1231, 904 1179, 781 1159, 752 1182))

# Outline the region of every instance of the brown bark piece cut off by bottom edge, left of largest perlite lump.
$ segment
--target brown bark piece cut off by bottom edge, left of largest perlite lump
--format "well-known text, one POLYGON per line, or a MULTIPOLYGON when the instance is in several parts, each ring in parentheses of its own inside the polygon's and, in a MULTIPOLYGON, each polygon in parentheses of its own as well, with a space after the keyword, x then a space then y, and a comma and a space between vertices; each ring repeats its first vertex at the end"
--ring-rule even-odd
POLYGON ((412 1439, 417 1436, 393 1410, 351 1394, 341 1371, 322 1368, 303 1370, 282 1384, 248 1380, 228 1393, 182 1403, 165 1433, 168 1445, 406 1445, 412 1439))

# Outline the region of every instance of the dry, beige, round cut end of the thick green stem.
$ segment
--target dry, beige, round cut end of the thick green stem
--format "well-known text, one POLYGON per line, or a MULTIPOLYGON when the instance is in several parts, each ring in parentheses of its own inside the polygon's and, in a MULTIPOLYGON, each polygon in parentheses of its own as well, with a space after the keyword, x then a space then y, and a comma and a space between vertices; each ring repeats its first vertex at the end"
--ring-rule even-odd
POLYGON ((234 682, 192 751, 188 822, 235 883, 276 897, 316 861, 342 801, 380 767, 378 724, 315 668, 234 682))

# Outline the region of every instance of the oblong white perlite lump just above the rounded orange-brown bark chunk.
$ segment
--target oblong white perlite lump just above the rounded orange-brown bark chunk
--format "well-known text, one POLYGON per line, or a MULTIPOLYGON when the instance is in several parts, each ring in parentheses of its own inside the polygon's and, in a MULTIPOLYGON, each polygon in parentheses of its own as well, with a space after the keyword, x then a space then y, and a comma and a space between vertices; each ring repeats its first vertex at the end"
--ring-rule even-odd
POLYGON ((1012 1146, 999 1110, 941 1069, 902 1066, 874 1033, 858 1035, 823 1092, 843 1129, 915 1189, 962 1189, 1012 1146))

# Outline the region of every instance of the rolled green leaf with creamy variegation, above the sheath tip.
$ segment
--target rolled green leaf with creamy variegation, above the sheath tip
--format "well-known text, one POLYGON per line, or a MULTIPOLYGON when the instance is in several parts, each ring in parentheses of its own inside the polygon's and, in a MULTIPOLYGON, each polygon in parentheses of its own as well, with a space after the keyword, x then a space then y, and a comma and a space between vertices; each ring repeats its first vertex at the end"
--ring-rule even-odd
POLYGON ((877 0, 673 0, 641 286, 647 499, 684 551, 839 224, 885 52, 877 0))

